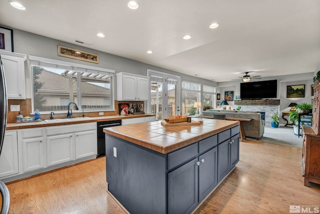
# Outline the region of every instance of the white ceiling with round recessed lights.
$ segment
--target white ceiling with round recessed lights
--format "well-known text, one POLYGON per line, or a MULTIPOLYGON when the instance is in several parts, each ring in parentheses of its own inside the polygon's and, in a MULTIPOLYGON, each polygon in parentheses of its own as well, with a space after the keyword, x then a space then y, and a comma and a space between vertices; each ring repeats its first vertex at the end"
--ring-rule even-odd
POLYGON ((319 0, 19 2, 25 11, 0 1, 0 25, 216 82, 320 70, 319 0))

